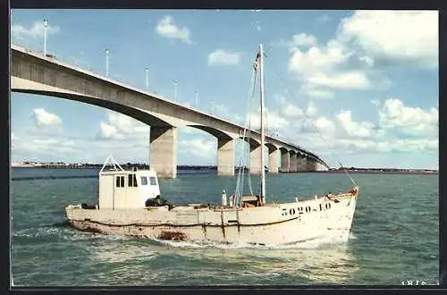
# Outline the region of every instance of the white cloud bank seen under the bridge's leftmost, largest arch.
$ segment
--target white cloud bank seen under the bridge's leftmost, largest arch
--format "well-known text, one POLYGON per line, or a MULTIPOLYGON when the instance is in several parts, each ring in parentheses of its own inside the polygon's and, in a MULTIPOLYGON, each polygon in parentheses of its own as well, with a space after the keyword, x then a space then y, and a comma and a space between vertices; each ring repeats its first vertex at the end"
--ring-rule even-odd
POLYGON ((107 120, 92 131, 75 135, 71 130, 55 135, 43 129, 29 128, 20 133, 20 139, 14 137, 13 157, 20 161, 103 163, 105 156, 112 154, 120 163, 148 163, 150 133, 144 123, 109 112, 107 120))

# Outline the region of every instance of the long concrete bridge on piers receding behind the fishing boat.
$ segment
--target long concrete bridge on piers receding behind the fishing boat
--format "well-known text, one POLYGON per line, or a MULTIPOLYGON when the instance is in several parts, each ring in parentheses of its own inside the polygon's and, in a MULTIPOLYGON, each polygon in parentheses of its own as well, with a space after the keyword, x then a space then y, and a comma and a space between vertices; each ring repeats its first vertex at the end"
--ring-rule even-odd
MULTIPOLYGON (((46 95, 98 105, 126 114, 150 126, 149 164, 160 177, 177 176, 177 128, 190 126, 217 139, 217 173, 234 175, 234 143, 244 126, 214 115, 132 88, 93 72, 82 70, 55 57, 33 53, 11 45, 13 92, 46 95)), ((251 131, 250 173, 260 173, 260 133, 251 131)), ((269 173, 325 171, 321 158, 297 145, 266 137, 269 173), (279 156, 281 155, 281 156, 279 156), (281 163, 276 163, 277 158, 281 163)))

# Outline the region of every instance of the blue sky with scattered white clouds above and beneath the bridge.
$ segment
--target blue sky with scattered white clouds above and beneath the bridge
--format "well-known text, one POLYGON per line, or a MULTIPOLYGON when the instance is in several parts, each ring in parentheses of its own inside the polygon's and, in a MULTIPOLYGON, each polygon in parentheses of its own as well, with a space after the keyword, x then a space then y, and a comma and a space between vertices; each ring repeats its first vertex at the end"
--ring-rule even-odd
MULTIPOLYGON (((266 129, 331 167, 438 169, 435 11, 13 10, 12 43, 258 126, 248 108, 266 51, 266 129), (175 90, 175 82, 177 86, 175 90), (175 95, 176 93, 176 95, 175 95)), ((96 105, 11 94, 12 161, 148 163, 150 127, 96 105)), ((236 163, 245 143, 238 139, 236 163)), ((217 140, 180 127, 178 164, 215 165, 217 140)))

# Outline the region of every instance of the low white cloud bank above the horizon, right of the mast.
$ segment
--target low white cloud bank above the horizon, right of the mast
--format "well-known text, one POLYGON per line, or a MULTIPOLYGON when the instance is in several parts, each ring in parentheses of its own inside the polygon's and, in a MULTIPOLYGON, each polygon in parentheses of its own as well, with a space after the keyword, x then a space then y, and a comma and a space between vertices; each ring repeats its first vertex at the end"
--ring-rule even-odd
MULTIPOLYGON (((283 96, 276 95, 275 98, 280 107, 290 104, 283 96)), ((437 108, 412 108, 395 98, 386 100, 383 105, 378 100, 372 100, 372 103, 380 106, 377 109, 377 124, 354 121, 350 110, 335 114, 335 121, 316 116, 318 109, 310 101, 306 117, 283 116, 286 119, 284 124, 292 128, 282 128, 278 133, 281 138, 297 142, 321 156, 332 157, 333 153, 338 156, 356 153, 432 153, 437 150, 437 108)))

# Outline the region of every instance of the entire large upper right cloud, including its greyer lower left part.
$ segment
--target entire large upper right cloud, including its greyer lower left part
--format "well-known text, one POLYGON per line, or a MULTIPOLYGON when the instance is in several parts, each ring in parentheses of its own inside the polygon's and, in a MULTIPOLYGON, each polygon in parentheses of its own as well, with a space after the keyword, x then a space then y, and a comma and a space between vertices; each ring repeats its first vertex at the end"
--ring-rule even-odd
POLYGON ((359 11, 342 19, 325 44, 301 32, 276 45, 290 47, 289 71, 308 97, 331 98, 340 89, 383 91, 392 81, 373 68, 437 66, 438 13, 359 11))

